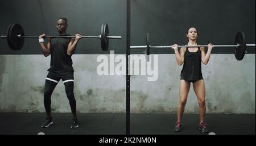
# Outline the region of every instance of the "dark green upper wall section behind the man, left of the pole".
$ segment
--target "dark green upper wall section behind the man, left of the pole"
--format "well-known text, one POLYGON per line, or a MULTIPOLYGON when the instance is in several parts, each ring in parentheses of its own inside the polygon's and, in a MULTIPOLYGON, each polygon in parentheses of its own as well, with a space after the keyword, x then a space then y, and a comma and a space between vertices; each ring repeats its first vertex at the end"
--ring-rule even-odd
MULTIPOLYGON (((125 36, 126 1, 120 0, 9 0, 1 1, 1 34, 5 34, 9 23, 20 23, 25 35, 46 33, 55 35, 56 20, 68 18, 69 34, 100 35, 101 24, 108 23, 110 35, 125 36)), ((109 48, 125 48, 125 38, 112 40, 109 48)), ((23 49, 12 51, 6 41, 1 40, 1 54, 40 54, 38 39, 26 39, 23 49)), ((99 39, 82 39, 76 53, 102 53, 99 39)), ((109 52, 104 52, 109 53, 109 52)))

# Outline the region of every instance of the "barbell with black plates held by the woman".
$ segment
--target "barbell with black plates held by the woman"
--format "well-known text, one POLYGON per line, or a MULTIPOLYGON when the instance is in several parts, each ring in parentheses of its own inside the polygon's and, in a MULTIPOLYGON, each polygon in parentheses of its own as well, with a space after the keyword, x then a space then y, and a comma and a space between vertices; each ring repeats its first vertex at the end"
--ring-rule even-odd
MULTIPOLYGON (((146 34, 146 44, 147 45, 135 45, 130 46, 130 49, 145 49, 147 55, 150 55, 151 48, 172 48, 173 45, 150 45, 149 34, 146 34)), ((178 48, 181 47, 208 47, 208 45, 178 45, 178 48)), ((246 53, 246 47, 255 47, 255 44, 246 44, 245 43, 245 34, 243 32, 237 32, 236 39, 233 45, 213 45, 213 47, 233 47, 234 55, 237 60, 242 60, 246 53)))

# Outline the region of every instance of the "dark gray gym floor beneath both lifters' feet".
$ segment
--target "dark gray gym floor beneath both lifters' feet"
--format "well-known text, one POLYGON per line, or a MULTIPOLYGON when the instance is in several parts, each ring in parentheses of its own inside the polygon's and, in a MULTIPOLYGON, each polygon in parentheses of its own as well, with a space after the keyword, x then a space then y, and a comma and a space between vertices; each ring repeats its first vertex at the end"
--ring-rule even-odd
MULTIPOLYGON (((125 114, 78 114, 79 128, 69 128, 71 113, 53 113, 53 124, 41 128, 44 113, 0 113, 0 134, 5 135, 124 135, 125 114)), ((174 132, 176 114, 131 114, 131 135, 201 135, 199 115, 185 114, 183 130, 174 132)), ((209 132, 217 135, 255 135, 255 114, 208 114, 209 132)))

